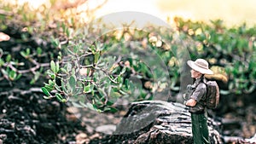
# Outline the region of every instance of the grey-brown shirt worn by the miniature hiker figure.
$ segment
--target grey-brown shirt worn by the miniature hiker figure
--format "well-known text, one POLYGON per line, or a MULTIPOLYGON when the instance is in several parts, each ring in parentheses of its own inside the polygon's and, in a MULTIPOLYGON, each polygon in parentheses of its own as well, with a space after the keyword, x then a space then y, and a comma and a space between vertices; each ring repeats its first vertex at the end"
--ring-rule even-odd
POLYGON ((195 107, 189 107, 189 112, 205 112, 206 107, 203 104, 203 100, 205 100, 207 95, 207 85, 201 81, 201 78, 196 79, 195 83, 187 88, 187 95, 189 99, 196 101, 195 107))

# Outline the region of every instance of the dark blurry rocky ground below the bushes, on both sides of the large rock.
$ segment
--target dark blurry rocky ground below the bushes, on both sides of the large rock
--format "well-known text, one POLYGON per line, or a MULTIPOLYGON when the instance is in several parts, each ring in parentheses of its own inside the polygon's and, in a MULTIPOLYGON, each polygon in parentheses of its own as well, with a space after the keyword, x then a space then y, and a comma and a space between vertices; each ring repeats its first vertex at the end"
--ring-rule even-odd
MULTIPOLYGON (((125 111, 99 114, 57 101, 46 101, 39 87, 7 89, 2 86, 0 110, 0 144, 108 143, 111 138, 108 134, 125 115, 125 111)), ((253 105, 244 105, 238 112, 223 114, 224 138, 252 137, 256 127, 254 110, 253 105)), ((230 143, 239 141, 234 139, 230 143)))

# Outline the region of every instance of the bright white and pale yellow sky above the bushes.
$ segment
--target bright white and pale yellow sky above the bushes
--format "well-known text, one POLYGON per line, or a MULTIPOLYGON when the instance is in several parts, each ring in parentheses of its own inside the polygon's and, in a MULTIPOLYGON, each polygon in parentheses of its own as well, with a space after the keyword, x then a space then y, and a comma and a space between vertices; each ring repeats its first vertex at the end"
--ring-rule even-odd
MULTIPOLYGON (((18 0, 28 2, 37 8, 47 0, 18 0)), ((73 0, 69 0, 73 1, 73 0)), ((96 7, 104 0, 88 0, 87 6, 96 7)), ((96 11, 96 17, 104 14, 122 11, 137 11, 152 14, 161 20, 180 16, 190 20, 224 20, 227 26, 236 26, 246 22, 248 26, 256 23, 255 0, 108 0, 101 9, 96 11)))

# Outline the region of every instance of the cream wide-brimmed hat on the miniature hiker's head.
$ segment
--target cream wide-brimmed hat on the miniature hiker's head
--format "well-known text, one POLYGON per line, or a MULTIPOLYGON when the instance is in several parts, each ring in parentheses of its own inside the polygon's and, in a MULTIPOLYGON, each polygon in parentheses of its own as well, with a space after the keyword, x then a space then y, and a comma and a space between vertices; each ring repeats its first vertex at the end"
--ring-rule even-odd
POLYGON ((195 61, 188 60, 187 64, 197 72, 201 72, 202 74, 213 74, 212 70, 209 69, 209 65, 207 60, 197 59, 195 61))

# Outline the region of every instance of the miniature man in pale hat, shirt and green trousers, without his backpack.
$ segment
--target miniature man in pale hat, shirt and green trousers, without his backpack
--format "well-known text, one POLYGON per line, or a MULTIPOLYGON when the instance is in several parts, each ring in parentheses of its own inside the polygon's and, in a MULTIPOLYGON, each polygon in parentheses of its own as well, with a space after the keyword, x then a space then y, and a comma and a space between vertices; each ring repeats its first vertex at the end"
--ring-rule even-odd
POLYGON ((208 68, 207 60, 188 60, 187 64, 191 68, 191 78, 194 78, 194 84, 188 85, 187 93, 184 95, 185 105, 189 107, 191 113, 193 141, 194 144, 210 144, 207 107, 204 106, 202 101, 207 95, 204 76, 205 74, 213 74, 213 72, 208 68))

